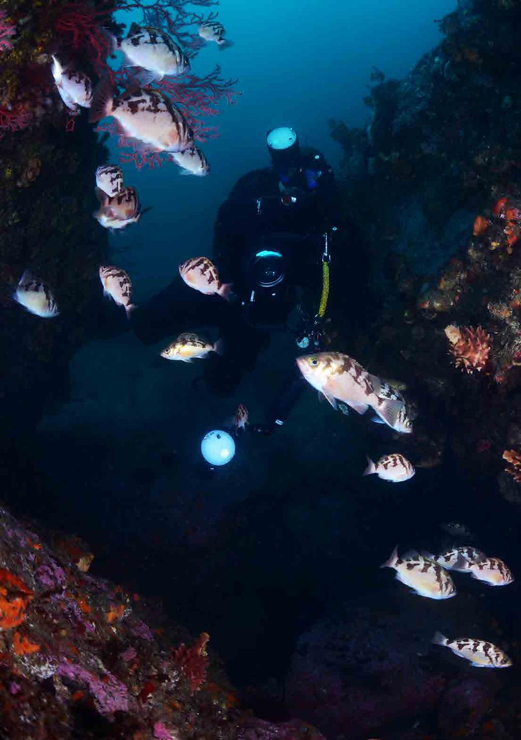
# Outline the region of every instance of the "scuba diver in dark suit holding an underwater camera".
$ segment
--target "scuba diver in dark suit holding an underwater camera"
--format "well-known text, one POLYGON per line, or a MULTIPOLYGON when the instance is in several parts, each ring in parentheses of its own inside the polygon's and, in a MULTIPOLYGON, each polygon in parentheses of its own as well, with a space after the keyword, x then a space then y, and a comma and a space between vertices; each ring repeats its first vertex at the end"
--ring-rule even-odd
MULTIPOLYGON (((332 168, 312 147, 300 147, 290 127, 266 135, 271 166, 243 175, 221 205, 212 260, 223 283, 232 283, 231 300, 202 295, 176 278, 149 303, 131 314, 144 343, 167 335, 218 327, 225 351, 206 357, 203 377, 216 394, 231 394, 275 331, 292 329, 302 351, 323 348, 322 318, 329 289, 329 261, 338 275, 337 308, 346 286, 345 235, 337 225, 338 193, 332 168)), ((332 288, 335 292, 335 287, 332 288)), ((297 349, 297 348, 295 348, 297 349)), ((256 431, 282 424, 306 383, 295 363, 280 393, 256 431)))

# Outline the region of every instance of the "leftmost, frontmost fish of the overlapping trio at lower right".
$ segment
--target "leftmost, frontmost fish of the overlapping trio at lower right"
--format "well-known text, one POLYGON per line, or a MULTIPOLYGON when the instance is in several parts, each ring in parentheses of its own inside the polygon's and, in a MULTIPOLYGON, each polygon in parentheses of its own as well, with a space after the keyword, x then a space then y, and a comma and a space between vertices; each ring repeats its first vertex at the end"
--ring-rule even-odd
POLYGON ((450 599, 456 596, 450 573, 440 563, 416 551, 398 557, 398 549, 394 548, 389 560, 380 567, 394 568, 395 578, 410 586, 418 596, 426 596, 427 599, 450 599))

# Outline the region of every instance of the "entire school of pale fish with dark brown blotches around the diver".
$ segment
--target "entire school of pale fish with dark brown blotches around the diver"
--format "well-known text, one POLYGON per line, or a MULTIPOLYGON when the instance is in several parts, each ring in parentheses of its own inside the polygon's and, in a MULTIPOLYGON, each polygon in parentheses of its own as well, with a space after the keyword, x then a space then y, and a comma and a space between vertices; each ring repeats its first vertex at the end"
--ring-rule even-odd
MULTIPOLYGON (((214 16, 201 19, 198 35, 213 42, 220 50, 232 46, 226 30, 214 16)), ((51 73, 56 90, 69 115, 80 115, 89 109, 89 121, 112 117, 120 134, 133 142, 141 152, 167 152, 182 174, 204 177, 209 163, 194 143, 194 134, 184 113, 161 90, 150 87, 165 76, 184 75, 190 70, 190 60, 167 33, 152 27, 132 23, 124 38, 111 37, 112 51, 124 56, 124 66, 135 71, 127 90, 118 91, 107 75, 94 88, 89 76, 74 64, 64 64, 59 53, 52 58, 51 73)), ((114 164, 101 165, 95 172, 95 194, 99 201, 94 217, 106 229, 121 230, 138 223, 142 213, 138 195, 132 186, 124 185, 121 168, 114 164)), ((207 257, 189 258, 179 265, 179 274, 192 289, 208 296, 229 300, 232 285, 222 283, 218 267, 207 257)), ((123 306, 127 316, 135 309, 132 303, 132 280, 124 269, 100 266, 99 277, 104 295, 123 306)), ((26 269, 13 294, 30 314, 41 318, 59 315, 53 290, 26 269)), ((161 351, 167 360, 192 362, 210 352, 222 351, 219 341, 212 343, 198 334, 184 332, 161 351)), ((347 413, 352 408, 365 414, 369 408, 374 420, 387 425, 398 434, 413 431, 411 410, 398 383, 370 374, 357 360, 335 351, 301 355, 296 360, 303 378, 316 388, 333 408, 347 413)), ((233 419, 235 435, 245 431, 248 410, 242 403, 233 419)), ((376 474, 387 482, 405 482, 414 476, 409 460, 400 453, 384 454, 377 462, 368 457, 364 476, 376 474)), ((463 525, 449 522, 443 525, 449 534, 469 534, 463 525)), ((497 556, 487 556, 471 545, 455 546, 438 555, 409 551, 399 556, 397 548, 382 568, 395 571, 395 578, 411 590, 428 599, 450 599, 456 595, 451 572, 470 574, 473 579, 490 586, 505 586, 514 581, 511 570, 497 556)), ((475 667, 502 668, 512 665, 511 659, 491 642, 470 637, 448 639, 437 632, 432 642, 448 647, 457 656, 475 667)))

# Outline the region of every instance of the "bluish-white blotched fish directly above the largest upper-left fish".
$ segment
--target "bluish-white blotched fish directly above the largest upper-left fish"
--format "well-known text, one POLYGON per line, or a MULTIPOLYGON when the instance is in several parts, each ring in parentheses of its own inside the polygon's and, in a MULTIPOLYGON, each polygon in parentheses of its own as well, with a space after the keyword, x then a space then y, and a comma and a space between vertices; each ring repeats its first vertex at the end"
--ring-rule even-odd
POLYGON ((178 44, 158 28, 141 27, 132 23, 127 38, 115 39, 115 46, 124 53, 125 67, 141 67, 149 73, 141 84, 161 80, 165 75, 188 72, 190 61, 178 44))

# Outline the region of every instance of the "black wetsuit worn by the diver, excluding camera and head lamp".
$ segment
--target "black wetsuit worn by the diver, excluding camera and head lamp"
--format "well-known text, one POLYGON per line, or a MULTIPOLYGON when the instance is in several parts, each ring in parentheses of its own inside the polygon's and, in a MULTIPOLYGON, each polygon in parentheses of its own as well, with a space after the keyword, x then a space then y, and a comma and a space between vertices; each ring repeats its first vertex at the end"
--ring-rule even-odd
MULTIPOLYGON (((313 187, 304 183, 301 189, 281 191, 278 172, 259 169, 243 175, 221 205, 212 259, 222 282, 233 283, 235 300, 227 303, 218 296, 202 295, 176 276, 167 288, 131 314, 135 333, 147 344, 204 326, 217 327, 224 339, 223 357, 209 354, 203 366, 206 385, 217 394, 232 393, 243 373, 255 366, 272 329, 284 328, 287 315, 296 305, 297 286, 304 286, 305 292, 312 295, 312 305, 306 306, 309 313, 317 311, 322 235, 336 225, 333 219, 337 214, 337 188, 331 169, 316 149, 303 152, 303 163, 309 163, 310 157, 313 162, 315 155, 320 157, 323 172, 313 187), (284 205, 283 195, 286 200, 294 200, 284 205), (271 303, 255 300, 255 305, 249 305, 252 285, 248 262, 259 248, 284 252, 286 277, 271 303)), ((298 178, 297 182, 300 184, 298 178)), ((298 348, 295 350, 298 354, 298 348)), ((303 387, 294 365, 288 369, 286 383, 269 408, 268 425, 286 418, 303 387)))

